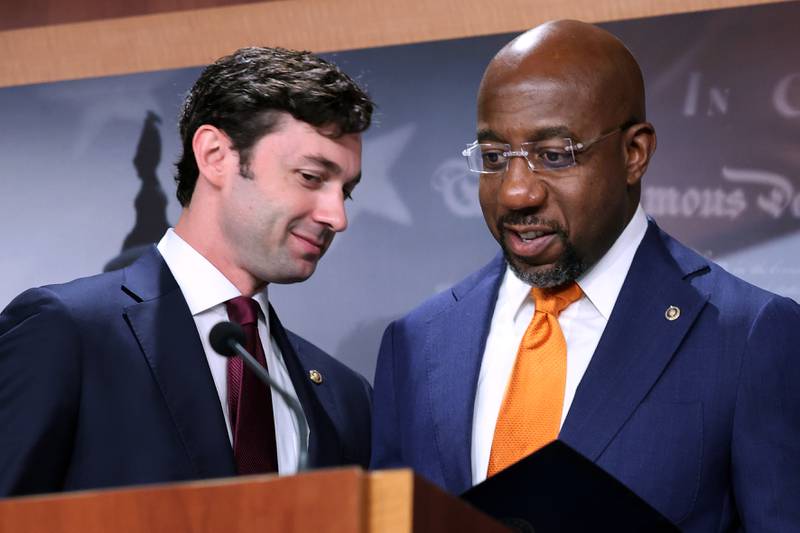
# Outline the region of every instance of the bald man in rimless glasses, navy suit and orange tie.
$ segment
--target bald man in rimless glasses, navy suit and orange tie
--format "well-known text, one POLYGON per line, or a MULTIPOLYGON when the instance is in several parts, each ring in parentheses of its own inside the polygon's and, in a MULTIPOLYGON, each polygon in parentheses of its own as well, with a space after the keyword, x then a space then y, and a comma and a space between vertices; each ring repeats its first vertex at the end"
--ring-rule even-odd
POLYGON ((464 155, 502 254, 387 328, 372 467, 409 465, 452 493, 485 479, 534 294, 577 282, 557 315, 550 438, 686 531, 800 529, 800 308, 647 219, 656 135, 630 52, 588 24, 544 24, 491 61, 477 114, 464 155))

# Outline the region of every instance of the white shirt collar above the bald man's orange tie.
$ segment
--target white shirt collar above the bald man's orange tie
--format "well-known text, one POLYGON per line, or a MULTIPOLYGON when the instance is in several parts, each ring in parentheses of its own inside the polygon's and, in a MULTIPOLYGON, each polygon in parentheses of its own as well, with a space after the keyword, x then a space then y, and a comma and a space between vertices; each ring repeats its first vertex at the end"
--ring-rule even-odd
MULTIPOLYGON (((611 317, 619 291, 633 263, 633 256, 646 232, 647 216, 640 205, 611 248, 577 280, 583 294, 606 320, 611 317)), ((530 297, 530 292, 530 285, 506 266, 498 300, 508 301, 512 309, 518 312, 530 297)))

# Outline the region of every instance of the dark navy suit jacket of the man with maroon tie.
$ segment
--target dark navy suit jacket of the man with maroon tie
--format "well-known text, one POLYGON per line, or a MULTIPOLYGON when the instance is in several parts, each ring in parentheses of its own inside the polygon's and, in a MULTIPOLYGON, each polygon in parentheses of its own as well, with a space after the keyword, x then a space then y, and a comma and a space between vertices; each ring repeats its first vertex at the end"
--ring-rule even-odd
MULTIPOLYGON (((270 325, 309 423, 311 466, 366 466, 369 384, 273 311, 270 325)), ((194 320, 155 248, 3 311, 0 428, 0 496, 236 473, 194 320)))

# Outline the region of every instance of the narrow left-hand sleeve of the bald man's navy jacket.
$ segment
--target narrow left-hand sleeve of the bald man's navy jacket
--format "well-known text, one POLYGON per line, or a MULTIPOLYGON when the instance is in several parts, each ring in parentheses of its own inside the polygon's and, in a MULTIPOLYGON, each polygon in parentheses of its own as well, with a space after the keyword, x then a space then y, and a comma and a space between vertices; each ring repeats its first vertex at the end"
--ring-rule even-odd
POLYGON ((405 466, 400 448, 402 435, 395 403, 394 330, 395 324, 392 323, 384 331, 375 368, 370 460, 372 469, 405 466))

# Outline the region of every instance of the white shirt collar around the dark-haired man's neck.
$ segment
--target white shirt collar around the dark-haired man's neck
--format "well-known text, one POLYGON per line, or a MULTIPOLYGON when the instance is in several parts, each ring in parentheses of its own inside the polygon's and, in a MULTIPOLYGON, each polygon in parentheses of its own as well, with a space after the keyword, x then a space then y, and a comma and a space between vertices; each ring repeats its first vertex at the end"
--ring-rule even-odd
MULTIPOLYGON (((158 251, 178 283, 192 316, 241 296, 239 289, 217 267, 172 228, 159 241, 158 251)), ((258 302, 264 316, 268 316, 269 299, 266 287, 255 294, 253 299, 258 302)))

